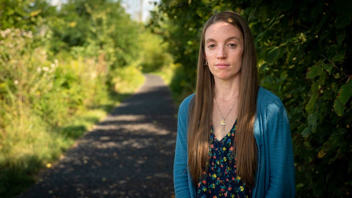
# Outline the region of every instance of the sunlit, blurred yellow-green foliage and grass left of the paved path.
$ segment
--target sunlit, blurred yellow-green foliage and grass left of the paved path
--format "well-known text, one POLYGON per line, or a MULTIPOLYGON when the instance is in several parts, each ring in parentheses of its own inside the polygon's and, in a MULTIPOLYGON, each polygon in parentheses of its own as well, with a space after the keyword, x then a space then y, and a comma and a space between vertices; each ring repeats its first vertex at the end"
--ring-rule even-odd
POLYGON ((31 185, 143 82, 143 30, 119 1, 0 2, 0 197, 31 185))

